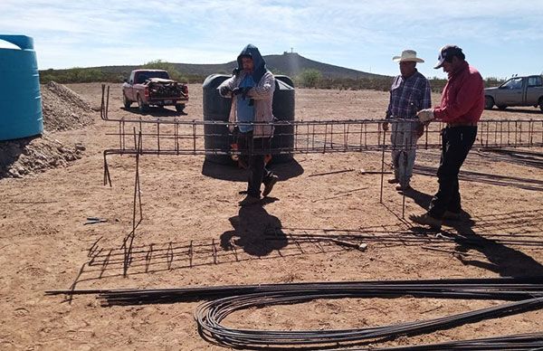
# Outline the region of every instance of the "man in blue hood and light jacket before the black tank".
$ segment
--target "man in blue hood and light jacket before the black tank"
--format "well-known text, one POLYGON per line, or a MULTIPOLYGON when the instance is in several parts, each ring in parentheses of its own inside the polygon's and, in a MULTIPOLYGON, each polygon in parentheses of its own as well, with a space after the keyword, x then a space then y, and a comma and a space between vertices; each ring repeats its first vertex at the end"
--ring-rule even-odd
MULTIPOLYGON (((234 131, 238 149, 249 169, 247 197, 241 206, 260 203, 262 196, 271 193, 277 183, 277 175, 266 168, 264 157, 270 153, 273 126, 271 104, 275 90, 275 78, 266 68, 258 48, 252 44, 245 46, 237 57, 238 67, 231 78, 219 87, 219 94, 232 98, 229 121, 234 131)), ((233 131, 231 129, 231 131, 233 131)))

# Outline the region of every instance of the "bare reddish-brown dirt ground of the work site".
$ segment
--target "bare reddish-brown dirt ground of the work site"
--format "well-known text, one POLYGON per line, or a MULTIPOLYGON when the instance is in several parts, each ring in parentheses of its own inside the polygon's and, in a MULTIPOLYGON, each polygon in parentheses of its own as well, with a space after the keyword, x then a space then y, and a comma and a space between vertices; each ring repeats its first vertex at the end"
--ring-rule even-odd
MULTIPOLYGON (((100 84, 69 88, 93 105, 100 103, 100 84)), ((202 88, 193 84, 189 90, 186 116, 180 118, 202 119, 202 88)), ((385 92, 301 89, 296 91, 296 119, 380 119, 386 104, 385 92)), ((121 106, 120 87, 111 86, 110 118, 137 115, 136 109, 121 106)), ((123 278, 121 245, 131 230, 134 158, 111 157, 113 186, 102 185, 102 151, 116 147, 117 138, 108 133, 118 126, 101 120, 99 112, 90 113, 94 124, 52 133, 64 145, 83 145, 81 159, 38 175, 0 179, 0 349, 222 349, 198 335, 193 318, 198 302, 105 308, 95 295, 70 301, 46 296, 49 289, 543 276, 543 171, 472 150, 463 170, 485 176, 461 181, 467 214, 461 222, 445 223, 443 230, 475 238, 477 244, 417 231, 406 219, 408 213, 424 212, 437 188, 434 176, 414 175, 405 218, 403 196, 393 186, 385 185, 380 204, 381 176, 357 171, 379 170, 378 153, 297 155, 295 162, 273 166, 280 182, 271 201, 245 208, 237 205, 246 186, 243 170, 205 164, 204 157, 141 157, 144 219, 129 276, 123 278), (92 216, 108 222, 85 225, 92 216), (364 236, 358 242, 367 243, 367 250, 322 239, 345 233, 364 236), (304 239, 311 235, 320 239, 304 239), (186 253, 190 245, 195 248, 191 258, 186 253)), ((542 117, 533 108, 483 115, 542 117)), ((419 152, 417 165, 438 162, 435 150, 419 152)), ((225 323, 286 330, 370 327, 500 303, 316 300, 249 309, 225 323)), ((543 331, 541 310, 379 345, 535 331, 543 331)))

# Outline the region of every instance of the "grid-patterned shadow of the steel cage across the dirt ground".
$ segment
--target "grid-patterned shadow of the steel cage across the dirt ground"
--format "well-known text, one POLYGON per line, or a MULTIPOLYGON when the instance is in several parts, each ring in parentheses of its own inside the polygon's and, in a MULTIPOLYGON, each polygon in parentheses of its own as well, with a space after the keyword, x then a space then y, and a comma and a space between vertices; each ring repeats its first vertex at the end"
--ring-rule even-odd
MULTIPOLYGON (((478 234, 456 229, 452 232, 416 231, 407 223, 375 225, 364 228, 300 228, 266 226, 259 235, 259 253, 256 260, 279 260, 296 256, 333 254, 359 249, 367 245, 370 250, 393 247, 416 247, 424 251, 439 252, 456 260, 467 262, 477 260, 491 264, 495 258, 484 251, 485 247, 505 247, 513 250, 537 252, 543 248, 540 233, 543 228, 543 209, 513 213, 489 213, 470 218, 471 228, 478 234), (348 243, 348 245, 345 245, 348 243)), ((450 223, 452 224, 452 223, 450 223)), ((457 223, 461 224, 461 223, 457 223)), ((452 224, 455 225, 455 224, 452 224)), ((245 229, 241 229, 244 232, 245 229)), ((197 267, 220 267, 224 264, 243 263, 255 260, 254 248, 247 251, 241 232, 224 232, 220 240, 185 241, 148 238, 144 243, 134 241, 129 256, 131 276, 194 269, 197 267), (151 242, 149 242, 151 241, 151 242)), ((255 239, 252 236, 253 239, 255 239)), ((89 261, 81 266, 80 273, 71 285, 76 289, 82 282, 122 277, 126 265, 126 248, 102 245, 100 237, 88 251, 89 261)), ((367 256, 366 256, 367 259, 367 256)), ((364 259, 363 259, 364 260, 364 259)), ((529 256, 517 256, 517 262, 528 260, 524 267, 530 267, 529 256)), ((531 271, 536 271, 533 269, 531 271)), ((501 271, 502 275, 515 275, 514 271, 501 271)), ((74 290, 75 291, 75 290, 74 290)))

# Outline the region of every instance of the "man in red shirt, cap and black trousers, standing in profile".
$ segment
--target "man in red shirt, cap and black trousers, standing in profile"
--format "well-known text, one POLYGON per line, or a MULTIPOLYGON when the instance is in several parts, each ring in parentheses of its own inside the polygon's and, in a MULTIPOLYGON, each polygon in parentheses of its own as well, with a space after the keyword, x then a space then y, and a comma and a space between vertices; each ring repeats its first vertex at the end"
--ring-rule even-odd
POLYGON ((442 156, 437 177, 439 189, 433 195, 428 212, 411 214, 414 223, 440 228, 443 219, 460 219, 462 205, 458 174, 477 137, 477 122, 484 109, 481 74, 465 61, 462 49, 443 46, 435 69, 443 67, 448 81, 443 89, 440 106, 417 113, 422 122, 433 119, 446 123, 442 130, 442 156))

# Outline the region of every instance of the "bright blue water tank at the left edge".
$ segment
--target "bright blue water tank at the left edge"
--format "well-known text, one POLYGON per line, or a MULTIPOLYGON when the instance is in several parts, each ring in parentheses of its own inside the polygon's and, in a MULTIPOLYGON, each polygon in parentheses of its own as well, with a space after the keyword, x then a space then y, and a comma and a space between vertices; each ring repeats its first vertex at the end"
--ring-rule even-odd
POLYGON ((42 97, 33 39, 0 34, 0 41, 19 47, 0 48, 0 140, 42 134, 42 97))

